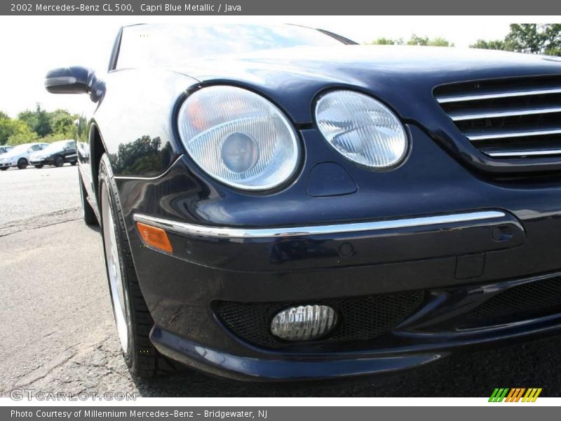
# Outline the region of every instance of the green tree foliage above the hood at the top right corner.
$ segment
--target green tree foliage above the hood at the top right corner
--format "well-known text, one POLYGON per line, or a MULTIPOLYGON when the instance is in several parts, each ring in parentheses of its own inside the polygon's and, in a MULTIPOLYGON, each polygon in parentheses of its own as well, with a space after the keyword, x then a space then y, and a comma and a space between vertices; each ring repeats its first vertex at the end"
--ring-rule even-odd
POLYGON ((479 39, 471 48, 516 51, 518 53, 561 55, 560 23, 513 23, 505 39, 479 39))

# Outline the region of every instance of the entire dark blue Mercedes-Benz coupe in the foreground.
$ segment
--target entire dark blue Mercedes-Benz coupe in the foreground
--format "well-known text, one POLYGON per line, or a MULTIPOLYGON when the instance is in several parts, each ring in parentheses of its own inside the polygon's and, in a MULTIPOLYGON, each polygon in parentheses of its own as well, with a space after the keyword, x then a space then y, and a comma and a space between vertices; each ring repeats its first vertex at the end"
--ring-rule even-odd
POLYGON ((353 44, 134 25, 107 74, 47 74, 91 100, 83 217, 132 373, 365 375, 561 327, 561 62, 353 44))

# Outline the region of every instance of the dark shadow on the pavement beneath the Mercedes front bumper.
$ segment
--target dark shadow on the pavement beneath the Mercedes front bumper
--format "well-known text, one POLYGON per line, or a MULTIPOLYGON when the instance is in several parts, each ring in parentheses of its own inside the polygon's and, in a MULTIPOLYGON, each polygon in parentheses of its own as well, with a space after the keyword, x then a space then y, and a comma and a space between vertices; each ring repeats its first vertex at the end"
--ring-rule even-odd
POLYGON ((414 370, 313 382, 241 382, 190 368, 151 381, 133 379, 142 396, 488 397, 495 387, 541 387, 561 396, 561 338, 457 354, 414 370))

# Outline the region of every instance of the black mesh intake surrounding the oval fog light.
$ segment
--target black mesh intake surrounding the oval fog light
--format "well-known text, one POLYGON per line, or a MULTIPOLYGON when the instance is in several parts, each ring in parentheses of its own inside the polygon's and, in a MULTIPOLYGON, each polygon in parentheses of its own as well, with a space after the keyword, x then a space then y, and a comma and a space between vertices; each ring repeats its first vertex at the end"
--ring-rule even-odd
MULTIPOLYGON (((391 332, 413 314, 423 302, 421 291, 370 295, 367 297, 320 300, 337 310, 339 325, 325 339, 316 342, 356 342, 377 338, 391 332)), ((215 311, 229 330, 239 338, 261 347, 290 346, 269 331, 273 316, 295 302, 243 303, 217 302, 215 311)))

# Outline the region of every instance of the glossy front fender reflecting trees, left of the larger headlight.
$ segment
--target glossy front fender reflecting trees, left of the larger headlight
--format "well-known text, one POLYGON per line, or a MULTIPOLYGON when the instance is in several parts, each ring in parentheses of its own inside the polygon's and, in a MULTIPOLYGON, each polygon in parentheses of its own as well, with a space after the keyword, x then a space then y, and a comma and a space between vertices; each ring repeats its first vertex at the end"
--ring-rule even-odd
POLYGON ((156 177, 182 153, 177 101, 198 81, 165 69, 109 72, 93 115, 117 177, 156 177))

